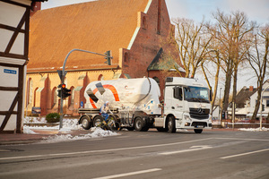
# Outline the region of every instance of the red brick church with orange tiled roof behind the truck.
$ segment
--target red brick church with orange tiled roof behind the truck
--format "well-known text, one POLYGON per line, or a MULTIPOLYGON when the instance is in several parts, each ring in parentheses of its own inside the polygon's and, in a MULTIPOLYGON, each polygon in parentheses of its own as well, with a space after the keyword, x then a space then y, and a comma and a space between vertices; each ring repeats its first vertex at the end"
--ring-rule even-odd
POLYGON ((68 57, 65 84, 72 95, 65 99, 65 114, 78 115, 81 102, 85 103, 84 89, 91 81, 146 76, 158 81, 162 92, 163 55, 181 65, 176 45, 169 43, 174 33, 165 0, 100 0, 34 13, 26 113, 32 107, 40 107, 41 115, 58 112, 56 70, 62 70, 65 56, 74 48, 100 54, 110 50, 113 59, 108 65, 104 56, 79 51, 68 57))

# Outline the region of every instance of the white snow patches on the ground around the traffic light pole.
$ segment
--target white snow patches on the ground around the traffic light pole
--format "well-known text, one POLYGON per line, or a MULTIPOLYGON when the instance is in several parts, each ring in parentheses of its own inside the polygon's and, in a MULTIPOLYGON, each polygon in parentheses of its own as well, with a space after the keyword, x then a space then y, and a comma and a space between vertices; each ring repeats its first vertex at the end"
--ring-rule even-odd
MULTIPOLYGON (((83 130, 81 124, 77 124, 78 119, 63 119, 63 128, 59 130, 59 125, 49 127, 46 124, 45 118, 39 117, 25 117, 24 118, 24 124, 44 124, 43 126, 23 126, 23 133, 29 133, 29 134, 36 134, 36 132, 33 132, 32 130, 48 130, 48 131, 58 131, 58 132, 72 132, 76 130, 83 130)), ((102 138, 107 136, 113 136, 118 135, 117 132, 111 132, 111 131, 104 131, 102 129, 98 128, 91 128, 89 133, 87 134, 80 134, 79 136, 73 136, 71 134, 59 134, 59 135, 53 135, 49 136, 48 138, 44 138, 44 141, 41 141, 42 143, 52 143, 52 142, 59 142, 59 141, 75 141, 75 140, 84 140, 84 139, 92 139, 92 138, 102 138)))

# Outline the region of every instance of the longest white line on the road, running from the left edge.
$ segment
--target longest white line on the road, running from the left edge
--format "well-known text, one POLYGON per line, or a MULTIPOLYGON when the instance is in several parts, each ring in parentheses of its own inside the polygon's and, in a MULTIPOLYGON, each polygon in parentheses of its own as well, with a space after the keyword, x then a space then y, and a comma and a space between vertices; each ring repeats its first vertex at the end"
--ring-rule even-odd
POLYGON ((100 152, 118 151, 118 150, 127 150, 127 149, 146 149, 146 148, 156 148, 156 147, 178 145, 178 144, 183 144, 183 143, 191 143, 191 142, 197 142, 197 141, 208 141, 208 140, 212 140, 212 138, 206 138, 206 139, 200 139, 200 140, 194 140, 194 141, 178 141, 178 142, 173 142, 173 143, 157 144, 157 145, 149 145, 149 146, 138 146, 138 147, 130 147, 130 148, 100 149, 100 150, 77 151, 77 152, 68 152, 68 153, 44 154, 44 155, 35 155, 35 156, 0 158, 0 160, 20 159, 20 158, 47 158, 47 157, 80 155, 80 154, 100 153, 100 152))

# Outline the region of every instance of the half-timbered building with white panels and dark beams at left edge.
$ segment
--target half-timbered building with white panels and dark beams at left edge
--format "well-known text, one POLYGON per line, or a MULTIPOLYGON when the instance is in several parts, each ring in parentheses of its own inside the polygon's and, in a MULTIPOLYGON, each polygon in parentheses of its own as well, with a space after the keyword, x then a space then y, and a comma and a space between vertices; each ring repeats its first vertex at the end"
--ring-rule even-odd
POLYGON ((22 132, 30 12, 41 1, 0 0, 0 132, 22 132))

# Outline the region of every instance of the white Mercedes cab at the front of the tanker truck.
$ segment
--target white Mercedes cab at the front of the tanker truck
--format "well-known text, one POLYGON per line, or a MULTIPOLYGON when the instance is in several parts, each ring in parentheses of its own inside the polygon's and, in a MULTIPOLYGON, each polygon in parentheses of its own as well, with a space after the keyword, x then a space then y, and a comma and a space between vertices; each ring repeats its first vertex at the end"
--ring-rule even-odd
POLYGON ((201 81, 181 77, 166 79, 163 115, 166 120, 174 117, 175 123, 170 122, 173 128, 194 129, 198 133, 211 129, 210 101, 211 91, 201 81))

